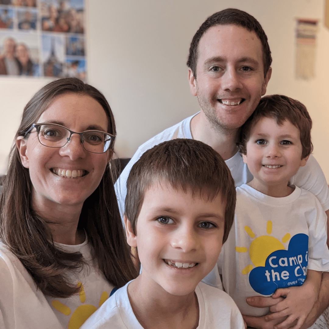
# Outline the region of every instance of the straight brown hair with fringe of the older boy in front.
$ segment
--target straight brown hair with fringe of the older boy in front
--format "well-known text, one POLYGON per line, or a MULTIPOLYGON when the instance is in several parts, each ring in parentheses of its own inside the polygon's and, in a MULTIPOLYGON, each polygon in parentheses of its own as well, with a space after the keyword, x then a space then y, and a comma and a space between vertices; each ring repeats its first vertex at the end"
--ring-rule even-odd
POLYGON ((226 241, 234 218, 235 186, 229 168, 212 147, 193 139, 173 139, 142 154, 127 179, 125 215, 134 234, 145 192, 157 182, 169 183, 175 190, 191 190, 208 200, 220 194, 226 205, 223 243, 226 241))

